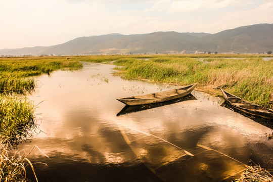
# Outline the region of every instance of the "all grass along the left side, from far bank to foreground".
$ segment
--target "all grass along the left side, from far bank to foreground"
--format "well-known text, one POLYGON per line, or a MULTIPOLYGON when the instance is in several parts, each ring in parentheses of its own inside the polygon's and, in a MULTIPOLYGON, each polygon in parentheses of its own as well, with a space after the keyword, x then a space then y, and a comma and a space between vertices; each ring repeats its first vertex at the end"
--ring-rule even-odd
POLYGON ((25 166, 33 167, 28 154, 12 150, 35 126, 35 106, 22 96, 35 89, 33 76, 81 67, 78 60, 66 57, 0 58, 0 181, 24 181, 25 166))

